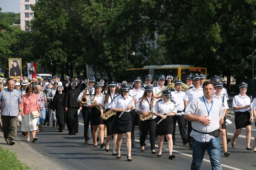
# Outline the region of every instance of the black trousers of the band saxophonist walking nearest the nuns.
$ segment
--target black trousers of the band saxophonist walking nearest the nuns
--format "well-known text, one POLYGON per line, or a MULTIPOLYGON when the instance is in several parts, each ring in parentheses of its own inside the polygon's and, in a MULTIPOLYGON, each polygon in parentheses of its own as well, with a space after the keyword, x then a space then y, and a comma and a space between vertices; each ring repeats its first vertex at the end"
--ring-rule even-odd
MULTIPOLYGON (((91 109, 88 107, 83 106, 82 108, 82 115, 83 115, 83 136, 85 136, 85 140, 89 140, 89 123, 91 122, 91 109)), ((91 123, 91 136, 93 136, 93 126, 91 123)))

